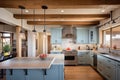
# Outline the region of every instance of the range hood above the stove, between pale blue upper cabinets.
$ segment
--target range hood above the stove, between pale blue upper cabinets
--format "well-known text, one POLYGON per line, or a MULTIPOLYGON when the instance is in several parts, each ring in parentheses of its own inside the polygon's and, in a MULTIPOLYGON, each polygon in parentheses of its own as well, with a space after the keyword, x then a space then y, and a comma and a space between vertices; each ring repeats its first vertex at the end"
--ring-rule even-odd
POLYGON ((63 27, 62 38, 75 38, 75 27, 71 26, 63 27))

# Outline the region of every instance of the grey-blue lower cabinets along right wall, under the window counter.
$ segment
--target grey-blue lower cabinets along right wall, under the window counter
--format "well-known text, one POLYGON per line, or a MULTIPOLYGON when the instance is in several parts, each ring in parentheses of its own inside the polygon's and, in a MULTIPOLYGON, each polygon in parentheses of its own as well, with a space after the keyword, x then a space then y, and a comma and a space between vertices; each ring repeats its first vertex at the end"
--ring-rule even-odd
POLYGON ((97 56, 97 61, 97 70, 107 80, 116 80, 116 62, 101 55, 97 56))

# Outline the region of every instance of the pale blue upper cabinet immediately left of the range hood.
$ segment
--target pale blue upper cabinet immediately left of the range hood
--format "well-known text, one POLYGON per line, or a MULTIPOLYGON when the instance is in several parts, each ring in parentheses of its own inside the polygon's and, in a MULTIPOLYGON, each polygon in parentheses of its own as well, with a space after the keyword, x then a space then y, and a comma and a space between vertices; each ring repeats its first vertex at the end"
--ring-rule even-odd
POLYGON ((62 28, 51 28, 51 43, 52 44, 62 43, 62 28))

